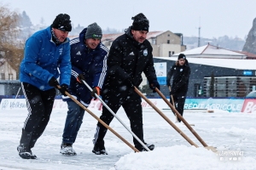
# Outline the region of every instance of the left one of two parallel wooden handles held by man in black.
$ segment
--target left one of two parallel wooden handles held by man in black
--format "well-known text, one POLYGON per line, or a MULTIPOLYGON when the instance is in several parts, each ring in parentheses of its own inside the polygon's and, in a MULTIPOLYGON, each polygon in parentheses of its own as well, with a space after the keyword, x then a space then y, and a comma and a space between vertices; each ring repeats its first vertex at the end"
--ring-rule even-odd
POLYGON ((182 135, 183 138, 189 142, 189 144, 194 145, 196 148, 198 148, 198 145, 195 144, 191 139, 189 139, 189 137, 185 133, 183 133, 167 116, 165 116, 165 114, 163 114, 149 99, 147 99, 146 96, 144 96, 136 87, 134 87, 134 90, 148 103, 148 105, 153 107, 154 111, 157 111, 160 116, 162 116, 166 120, 166 122, 168 122, 177 131, 177 133, 182 135))

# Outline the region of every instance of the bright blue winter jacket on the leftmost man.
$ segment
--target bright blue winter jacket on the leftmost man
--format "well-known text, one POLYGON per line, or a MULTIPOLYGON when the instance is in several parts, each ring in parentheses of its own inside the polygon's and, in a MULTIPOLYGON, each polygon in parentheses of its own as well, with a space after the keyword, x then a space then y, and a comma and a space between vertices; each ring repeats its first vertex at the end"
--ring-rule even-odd
POLYGON ((60 84, 68 86, 71 77, 69 39, 56 46, 50 29, 51 26, 37 31, 26 40, 20 64, 20 82, 30 83, 43 91, 53 88, 48 84, 51 77, 61 75, 60 84))

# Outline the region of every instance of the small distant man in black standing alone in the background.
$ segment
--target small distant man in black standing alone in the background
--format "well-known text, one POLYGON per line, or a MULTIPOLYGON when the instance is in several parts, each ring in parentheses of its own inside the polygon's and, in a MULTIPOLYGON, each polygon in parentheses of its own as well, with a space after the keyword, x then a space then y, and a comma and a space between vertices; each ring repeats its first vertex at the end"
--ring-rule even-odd
MULTIPOLYGON (((189 88, 189 75, 190 75, 190 67, 189 62, 186 59, 184 54, 179 54, 177 57, 177 61, 174 65, 172 65, 171 70, 167 75, 167 86, 170 91, 170 102, 172 103, 172 97, 174 100, 174 105, 176 110, 179 112, 181 116, 183 116, 183 107, 186 100, 186 95, 189 88), (171 78, 172 88, 171 88, 171 78)), ((175 113, 174 113, 175 114, 175 113)), ((177 121, 181 122, 181 120, 177 117, 177 121)))

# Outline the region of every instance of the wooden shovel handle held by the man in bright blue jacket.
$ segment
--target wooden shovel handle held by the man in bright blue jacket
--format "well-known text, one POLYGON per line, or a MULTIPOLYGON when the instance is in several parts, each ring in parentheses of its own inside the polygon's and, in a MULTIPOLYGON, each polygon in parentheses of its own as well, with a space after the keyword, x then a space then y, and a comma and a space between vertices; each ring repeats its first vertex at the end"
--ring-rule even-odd
MULTIPOLYGON (((57 86, 58 88, 61 88, 61 86, 57 86)), ((94 118, 96 118, 96 120, 98 122, 101 122, 102 125, 106 128, 108 128, 108 130, 110 130, 112 133, 114 133, 117 137, 119 137, 119 139, 121 139, 123 142, 125 142, 125 144, 127 144, 128 146, 130 146, 130 148, 132 150, 134 150, 135 152, 139 152, 139 150, 137 150, 133 145, 131 145, 127 140, 125 140, 123 137, 121 137, 119 135, 119 133, 116 133, 113 128, 109 127, 105 122, 103 122, 99 117, 97 117, 94 113, 92 113, 89 109, 87 109, 84 105, 82 105, 77 99, 74 99, 73 96, 71 94, 68 94, 67 91, 65 91, 65 94, 67 94, 67 96, 70 99, 73 99, 73 101, 78 104, 80 107, 82 107, 84 109, 84 111, 87 111, 88 113, 90 113, 91 116, 93 116, 94 118)))

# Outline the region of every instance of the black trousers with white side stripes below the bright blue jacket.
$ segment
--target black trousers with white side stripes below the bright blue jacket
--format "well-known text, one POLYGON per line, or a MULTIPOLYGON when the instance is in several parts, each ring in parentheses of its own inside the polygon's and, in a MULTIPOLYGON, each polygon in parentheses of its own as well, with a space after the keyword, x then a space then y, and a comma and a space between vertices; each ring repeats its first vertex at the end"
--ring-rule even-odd
POLYGON ((28 111, 23 129, 32 133, 34 139, 38 139, 49 122, 56 91, 55 88, 42 91, 26 82, 21 82, 21 87, 28 111))

